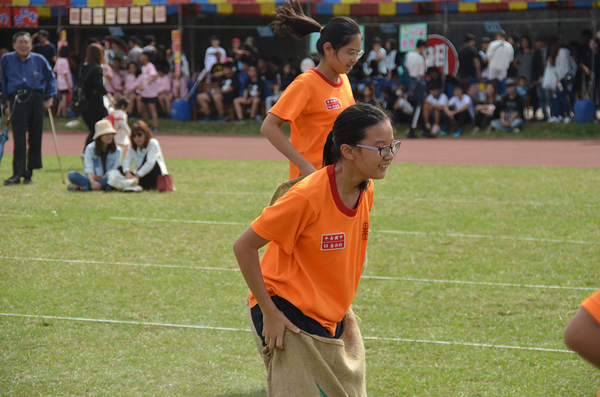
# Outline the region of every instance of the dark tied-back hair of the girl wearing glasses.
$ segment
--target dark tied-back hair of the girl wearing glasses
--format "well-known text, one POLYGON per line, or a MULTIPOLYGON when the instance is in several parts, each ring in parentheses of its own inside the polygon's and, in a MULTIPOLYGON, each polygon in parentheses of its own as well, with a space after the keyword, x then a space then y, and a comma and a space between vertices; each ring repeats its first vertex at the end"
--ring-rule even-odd
MULTIPOLYGON (((323 148, 323 167, 337 163, 342 158, 342 145, 355 146, 365 139, 367 130, 379 123, 391 120, 380 108, 368 103, 358 102, 346 109, 335 119, 333 129, 327 135, 323 148)), ((359 190, 369 186, 369 180, 364 180, 359 190)))

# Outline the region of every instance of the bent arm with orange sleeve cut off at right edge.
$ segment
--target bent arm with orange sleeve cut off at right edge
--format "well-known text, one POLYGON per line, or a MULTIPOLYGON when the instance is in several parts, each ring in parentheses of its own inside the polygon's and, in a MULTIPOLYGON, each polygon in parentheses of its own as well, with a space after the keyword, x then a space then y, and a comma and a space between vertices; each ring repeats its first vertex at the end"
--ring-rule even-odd
POLYGON ((567 325, 565 343, 600 369, 600 290, 581 303, 567 325))

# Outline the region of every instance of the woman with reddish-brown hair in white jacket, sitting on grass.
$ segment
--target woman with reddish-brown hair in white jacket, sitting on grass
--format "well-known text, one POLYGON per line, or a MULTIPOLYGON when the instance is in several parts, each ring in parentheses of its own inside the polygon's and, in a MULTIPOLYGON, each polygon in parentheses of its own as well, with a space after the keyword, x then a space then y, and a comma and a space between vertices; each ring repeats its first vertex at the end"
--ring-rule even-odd
POLYGON ((148 124, 143 121, 138 121, 131 127, 131 148, 123 160, 123 173, 126 179, 138 179, 138 185, 123 189, 134 192, 156 189, 158 176, 168 174, 160 145, 150 132, 148 124), (135 173, 131 172, 132 162, 135 162, 135 173))

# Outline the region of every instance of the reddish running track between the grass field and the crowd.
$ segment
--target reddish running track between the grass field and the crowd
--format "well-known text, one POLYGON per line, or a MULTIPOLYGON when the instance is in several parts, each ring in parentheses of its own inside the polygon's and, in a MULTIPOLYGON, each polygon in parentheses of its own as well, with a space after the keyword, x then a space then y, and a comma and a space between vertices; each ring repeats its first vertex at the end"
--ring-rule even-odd
MULTIPOLYGON (((87 132, 58 132, 61 156, 82 152, 87 132)), ((262 136, 159 134, 165 157, 285 160, 262 136)), ((4 153, 12 154, 12 133, 4 153)), ((55 155, 52 133, 44 132, 42 154, 55 155)), ((600 140, 403 139, 398 163, 600 167, 600 140)))

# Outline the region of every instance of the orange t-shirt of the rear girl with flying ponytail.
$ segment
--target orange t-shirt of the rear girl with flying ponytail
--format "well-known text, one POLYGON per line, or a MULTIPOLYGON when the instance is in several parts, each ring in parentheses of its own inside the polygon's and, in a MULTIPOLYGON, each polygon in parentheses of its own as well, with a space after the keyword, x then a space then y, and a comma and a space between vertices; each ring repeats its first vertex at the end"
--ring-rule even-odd
MULTIPOLYGON (((290 123, 292 145, 316 169, 320 169, 323 166, 323 147, 335 119, 353 104, 347 75, 341 74, 336 84, 317 69, 311 69, 296 77, 269 113, 290 123)), ((301 175, 298 167, 290 161, 289 178, 301 175)))

